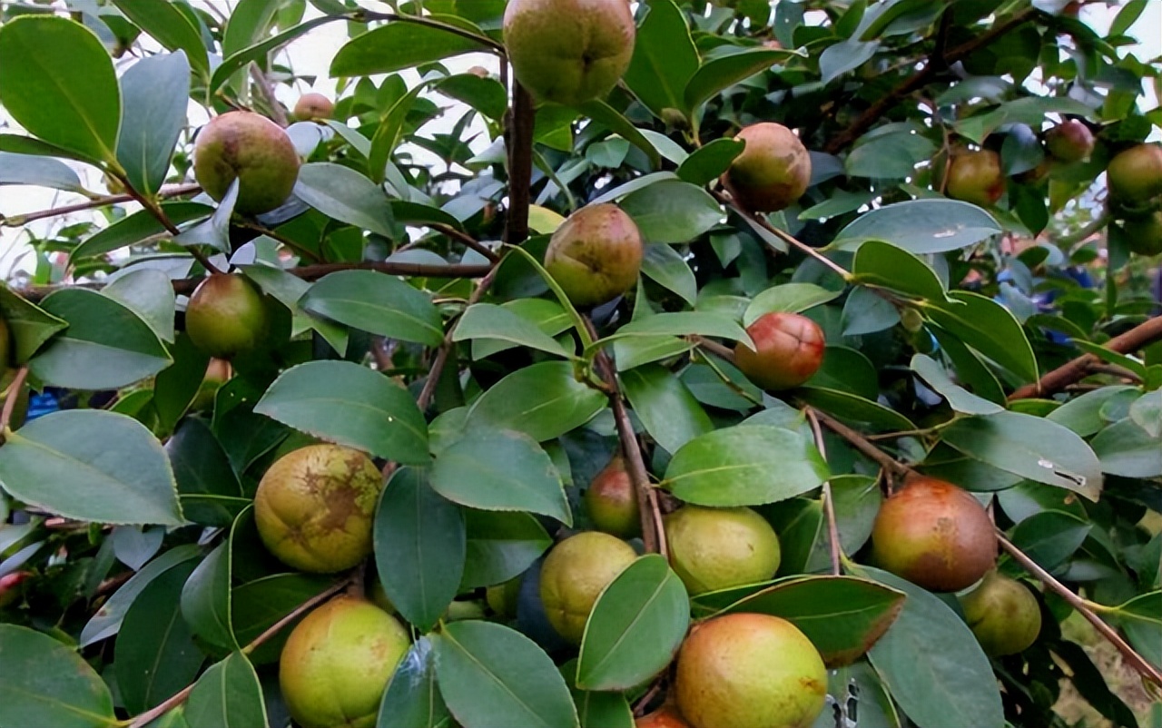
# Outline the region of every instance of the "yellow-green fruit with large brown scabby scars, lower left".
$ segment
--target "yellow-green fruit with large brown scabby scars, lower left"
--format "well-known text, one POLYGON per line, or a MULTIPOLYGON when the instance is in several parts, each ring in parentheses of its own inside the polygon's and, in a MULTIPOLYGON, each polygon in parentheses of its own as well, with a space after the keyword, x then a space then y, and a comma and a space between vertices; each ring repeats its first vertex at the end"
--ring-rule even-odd
POLYGON ((371 526, 383 478, 359 451, 311 445, 266 470, 254 495, 263 543, 302 571, 350 569, 371 554, 371 526))

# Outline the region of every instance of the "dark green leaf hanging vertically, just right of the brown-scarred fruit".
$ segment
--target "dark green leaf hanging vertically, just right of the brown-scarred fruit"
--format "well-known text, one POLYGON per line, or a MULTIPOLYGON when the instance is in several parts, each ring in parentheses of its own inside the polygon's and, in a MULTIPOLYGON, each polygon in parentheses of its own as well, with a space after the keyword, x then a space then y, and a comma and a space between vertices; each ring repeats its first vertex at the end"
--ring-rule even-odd
POLYGON ((460 509, 428 485, 428 473, 400 468, 375 511, 379 579, 406 620, 421 632, 439 621, 464 574, 465 527, 460 509))

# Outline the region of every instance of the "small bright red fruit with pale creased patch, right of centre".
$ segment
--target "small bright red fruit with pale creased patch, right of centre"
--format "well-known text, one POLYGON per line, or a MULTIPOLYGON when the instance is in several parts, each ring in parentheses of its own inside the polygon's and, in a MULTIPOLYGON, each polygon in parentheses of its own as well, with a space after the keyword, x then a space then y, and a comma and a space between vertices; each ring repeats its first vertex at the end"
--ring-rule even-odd
POLYGON ((823 365, 823 329, 798 313, 765 313, 746 327, 755 348, 739 341, 734 363, 759 387, 779 391, 798 387, 823 365))

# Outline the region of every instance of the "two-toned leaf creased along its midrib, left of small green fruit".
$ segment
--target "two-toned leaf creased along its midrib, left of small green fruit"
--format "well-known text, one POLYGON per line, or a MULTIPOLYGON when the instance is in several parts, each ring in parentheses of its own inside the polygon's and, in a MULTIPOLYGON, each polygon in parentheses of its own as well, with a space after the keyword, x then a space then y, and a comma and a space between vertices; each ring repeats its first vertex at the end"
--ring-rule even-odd
POLYGON ((33 375, 45 384, 117 389, 173 363, 149 324, 95 290, 57 290, 41 305, 69 323, 64 333, 29 361, 33 375))

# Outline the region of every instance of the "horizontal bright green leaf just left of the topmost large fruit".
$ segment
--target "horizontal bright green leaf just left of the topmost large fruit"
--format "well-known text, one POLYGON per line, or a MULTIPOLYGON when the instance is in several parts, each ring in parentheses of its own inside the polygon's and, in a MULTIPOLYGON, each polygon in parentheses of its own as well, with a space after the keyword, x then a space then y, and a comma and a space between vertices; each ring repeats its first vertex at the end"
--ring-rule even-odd
POLYGON ((393 22, 356 36, 331 60, 331 78, 392 73, 461 53, 488 50, 473 41, 430 24, 393 22))

